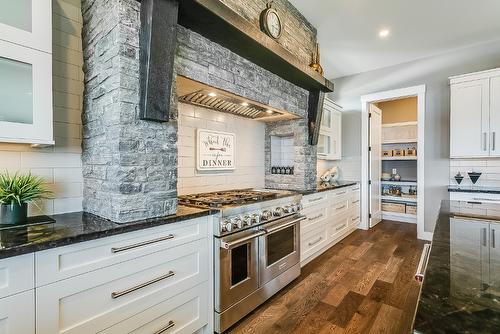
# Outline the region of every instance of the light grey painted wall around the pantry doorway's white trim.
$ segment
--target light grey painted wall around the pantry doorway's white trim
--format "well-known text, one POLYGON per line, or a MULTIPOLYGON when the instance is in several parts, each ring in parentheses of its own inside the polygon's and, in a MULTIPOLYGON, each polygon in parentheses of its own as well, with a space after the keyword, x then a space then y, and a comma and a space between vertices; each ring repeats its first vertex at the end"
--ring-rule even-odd
MULTIPOLYGON (((335 80, 335 92, 332 99, 345 110, 342 118, 342 152, 343 159, 346 158, 347 161, 360 160, 360 97, 362 95, 426 85, 426 231, 434 229, 441 200, 448 198, 447 186, 450 173, 448 77, 495 67, 500 67, 500 41, 335 80)), ((358 179, 359 177, 358 173, 358 179)))

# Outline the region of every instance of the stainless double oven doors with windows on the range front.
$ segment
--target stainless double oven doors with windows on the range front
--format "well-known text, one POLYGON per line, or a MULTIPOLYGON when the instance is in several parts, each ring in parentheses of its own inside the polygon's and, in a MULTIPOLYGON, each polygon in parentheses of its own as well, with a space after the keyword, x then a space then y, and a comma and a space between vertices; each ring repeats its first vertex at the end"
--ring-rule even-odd
POLYGON ((303 219, 293 215, 216 238, 217 312, 223 312, 299 263, 303 219))

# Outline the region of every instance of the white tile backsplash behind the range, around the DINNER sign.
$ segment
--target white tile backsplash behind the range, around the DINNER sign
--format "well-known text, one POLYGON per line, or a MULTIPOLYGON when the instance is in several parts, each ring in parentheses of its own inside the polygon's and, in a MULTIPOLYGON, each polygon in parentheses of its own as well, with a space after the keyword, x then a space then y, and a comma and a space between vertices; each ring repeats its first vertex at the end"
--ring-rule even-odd
POLYGON ((179 195, 264 187, 265 124, 239 116, 179 103, 179 195), (234 171, 196 170, 196 129, 236 134, 234 171))

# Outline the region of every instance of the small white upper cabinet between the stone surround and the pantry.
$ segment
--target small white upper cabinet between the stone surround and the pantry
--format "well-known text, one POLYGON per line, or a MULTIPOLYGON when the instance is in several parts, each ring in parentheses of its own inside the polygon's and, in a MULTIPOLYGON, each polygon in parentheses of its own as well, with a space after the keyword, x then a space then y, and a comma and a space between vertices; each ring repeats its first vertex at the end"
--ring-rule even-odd
POLYGON ((318 138, 318 159, 340 160, 342 157, 342 108, 325 98, 318 138))

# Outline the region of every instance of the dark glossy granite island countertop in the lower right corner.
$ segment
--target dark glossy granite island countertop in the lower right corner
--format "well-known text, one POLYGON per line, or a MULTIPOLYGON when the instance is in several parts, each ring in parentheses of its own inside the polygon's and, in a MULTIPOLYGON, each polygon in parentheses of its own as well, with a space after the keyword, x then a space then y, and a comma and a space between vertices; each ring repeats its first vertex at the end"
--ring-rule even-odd
MULTIPOLYGON (((425 271, 414 333, 499 333, 498 210, 455 214, 464 202, 443 201, 425 271)), ((463 210, 462 210, 463 209, 463 210)))

